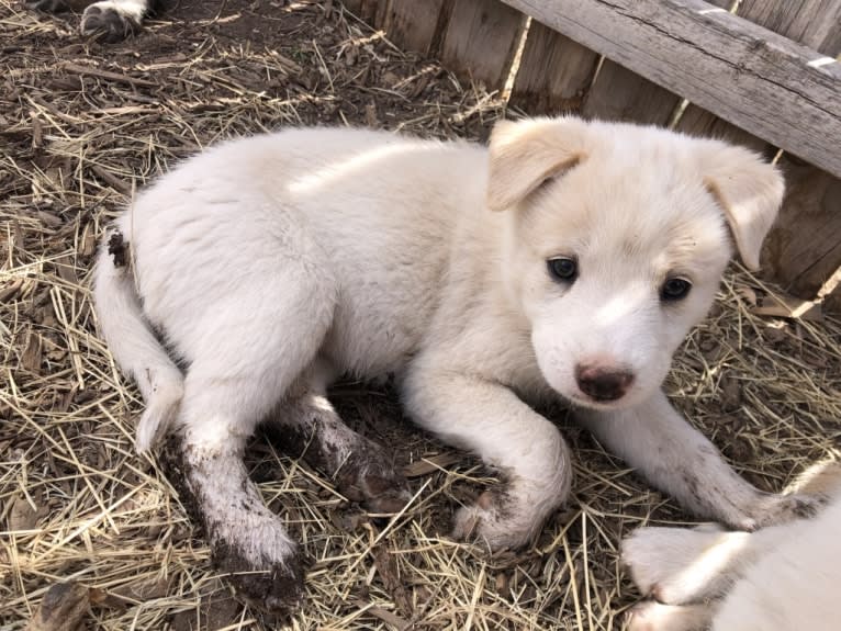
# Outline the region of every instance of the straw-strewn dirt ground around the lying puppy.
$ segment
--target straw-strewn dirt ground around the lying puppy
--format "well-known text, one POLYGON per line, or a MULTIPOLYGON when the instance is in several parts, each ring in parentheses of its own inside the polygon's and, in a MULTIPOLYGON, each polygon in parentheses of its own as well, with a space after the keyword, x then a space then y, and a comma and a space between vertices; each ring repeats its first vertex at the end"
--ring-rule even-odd
MULTIPOLYGON (((505 104, 337 2, 182 0, 112 45, 77 24, 0 0, 0 628, 23 629, 52 585, 75 581, 88 629, 274 629, 232 598, 166 476, 133 452, 142 402, 91 309, 97 238, 136 188, 220 138, 359 124, 483 139, 505 104)), ((728 274, 668 383, 769 491, 841 444, 841 324, 781 318, 776 295, 728 274)), ((413 429, 388 385, 333 398, 394 450, 415 497, 394 518, 368 515, 255 439, 254 477, 310 559, 294 629, 620 629, 639 599, 621 537, 692 521, 547 410, 574 450, 573 497, 530 549, 487 555, 447 532, 490 472, 413 429)))

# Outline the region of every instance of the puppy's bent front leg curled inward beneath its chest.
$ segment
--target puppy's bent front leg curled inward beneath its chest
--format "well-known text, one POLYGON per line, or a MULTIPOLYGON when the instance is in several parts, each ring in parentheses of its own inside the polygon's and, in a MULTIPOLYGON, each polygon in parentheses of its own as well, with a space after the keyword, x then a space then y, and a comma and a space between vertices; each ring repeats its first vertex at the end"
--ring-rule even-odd
POLYGON ((572 466, 558 429, 509 388, 456 372, 415 369, 403 384, 415 421, 497 467, 506 485, 456 516, 455 537, 518 548, 567 499, 572 466))

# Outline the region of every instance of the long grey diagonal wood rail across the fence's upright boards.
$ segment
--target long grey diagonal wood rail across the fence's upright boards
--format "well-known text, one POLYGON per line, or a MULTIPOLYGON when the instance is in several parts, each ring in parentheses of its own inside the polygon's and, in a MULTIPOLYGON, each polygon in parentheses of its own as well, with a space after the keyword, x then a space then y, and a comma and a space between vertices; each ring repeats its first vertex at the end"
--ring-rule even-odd
POLYGON ((841 64, 702 0, 504 0, 841 176, 841 64))

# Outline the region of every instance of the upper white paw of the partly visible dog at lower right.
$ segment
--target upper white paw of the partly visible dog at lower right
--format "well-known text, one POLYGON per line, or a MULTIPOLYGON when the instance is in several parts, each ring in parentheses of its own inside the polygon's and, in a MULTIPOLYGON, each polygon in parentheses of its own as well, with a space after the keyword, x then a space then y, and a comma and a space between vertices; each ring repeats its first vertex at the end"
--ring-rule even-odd
POLYGON ((640 528, 623 542, 623 562, 644 596, 683 605, 718 596, 730 578, 731 553, 749 534, 640 528))

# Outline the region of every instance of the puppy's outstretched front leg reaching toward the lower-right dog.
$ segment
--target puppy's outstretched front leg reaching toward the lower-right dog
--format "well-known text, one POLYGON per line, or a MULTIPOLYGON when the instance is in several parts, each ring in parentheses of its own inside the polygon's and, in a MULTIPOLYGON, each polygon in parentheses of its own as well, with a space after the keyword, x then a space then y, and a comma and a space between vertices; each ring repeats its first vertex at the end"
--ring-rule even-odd
POLYGON ((754 530, 812 515, 820 499, 763 493, 740 477, 662 392, 629 409, 576 410, 579 420, 654 486, 698 516, 754 530))

